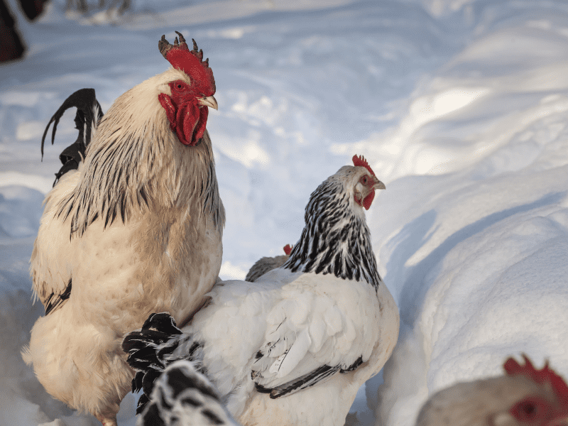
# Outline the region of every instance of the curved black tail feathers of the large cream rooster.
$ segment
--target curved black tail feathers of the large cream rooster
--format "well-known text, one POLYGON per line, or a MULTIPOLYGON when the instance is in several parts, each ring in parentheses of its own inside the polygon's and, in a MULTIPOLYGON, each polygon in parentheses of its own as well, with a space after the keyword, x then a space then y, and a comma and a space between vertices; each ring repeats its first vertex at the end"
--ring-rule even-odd
POLYGON ((53 131, 51 133, 51 144, 53 145, 59 120, 63 116, 63 113, 72 107, 77 108, 77 113, 75 114, 75 128, 79 131, 79 136, 77 136, 77 140, 74 143, 67 146, 59 155, 62 167, 58 173, 55 173, 54 186, 62 175, 79 167, 79 163, 83 160, 87 146, 91 141, 92 133, 97 128, 99 120, 103 116, 101 106, 95 97, 94 89, 80 89, 71 94, 70 97, 65 99, 65 102, 63 102, 55 114, 53 114, 48 126, 45 127, 43 137, 41 138, 42 158, 45 136, 48 134, 49 127, 53 123, 53 131))

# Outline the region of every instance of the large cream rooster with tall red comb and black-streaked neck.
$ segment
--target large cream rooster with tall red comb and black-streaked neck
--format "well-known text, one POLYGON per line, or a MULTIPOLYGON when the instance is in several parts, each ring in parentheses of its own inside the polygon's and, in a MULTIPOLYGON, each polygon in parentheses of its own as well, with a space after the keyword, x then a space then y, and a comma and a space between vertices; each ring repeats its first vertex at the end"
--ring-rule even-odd
POLYGON ((221 266, 225 214, 205 127, 215 82, 195 40, 189 50, 178 35, 158 43, 172 67, 116 99, 90 142, 84 132, 84 159, 81 143, 71 150, 79 164, 47 195, 31 256, 45 316, 23 359, 50 395, 107 426, 134 375, 123 337, 152 312, 183 323, 221 266))

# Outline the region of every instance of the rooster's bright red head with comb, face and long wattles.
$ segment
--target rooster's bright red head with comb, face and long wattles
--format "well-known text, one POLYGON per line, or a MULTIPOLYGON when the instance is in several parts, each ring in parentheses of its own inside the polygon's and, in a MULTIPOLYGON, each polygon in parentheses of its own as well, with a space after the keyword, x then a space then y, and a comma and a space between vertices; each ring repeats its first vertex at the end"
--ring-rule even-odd
POLYGON ((160 53, 180 72, 180 78, 168 82, 171 95, 160 93, 158 99, 170 121, 170 128, 178 135, 180 142, 196 146, 201 142, 209 109, 217 109, 215 80, 209 68, 209 59, 203 60, 203 51, 197 50, 193 40, 193 50, 185 43, 183 35, 175 38, 173 45, 165 40, 165 35, 158 43, 160 53))

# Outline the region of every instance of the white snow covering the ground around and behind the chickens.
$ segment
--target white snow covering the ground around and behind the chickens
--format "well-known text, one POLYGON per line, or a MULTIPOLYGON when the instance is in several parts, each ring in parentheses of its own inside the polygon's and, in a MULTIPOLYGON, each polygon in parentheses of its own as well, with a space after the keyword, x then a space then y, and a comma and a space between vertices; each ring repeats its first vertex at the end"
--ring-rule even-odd
MULTIPOLYGON (((94 87, 106 111, 165 70, 157 42, 174 30, 217 82, 222 278, 295 243, 310 193, 352 155, 386 182, 367 219, 401 332, 350 425, 411 426, 428 395, 500 374, 510 355, 568 377, 564 1, 139 0, 122 18, 64 4, 19 16, 28 54, 0 65, 0 424, 97 425, 19 355, 43 315, 28 261, 74 114, 43 162, 40 138, 76 89, 94 87)), ((134 424, 134 401, 119 425, 134 424)))

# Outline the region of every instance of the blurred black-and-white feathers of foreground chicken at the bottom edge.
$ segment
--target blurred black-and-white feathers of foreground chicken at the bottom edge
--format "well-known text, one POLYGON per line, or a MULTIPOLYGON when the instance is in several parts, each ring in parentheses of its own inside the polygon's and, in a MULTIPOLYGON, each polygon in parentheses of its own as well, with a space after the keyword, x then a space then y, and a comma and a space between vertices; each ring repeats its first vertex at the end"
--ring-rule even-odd
POLYGON ((190 361, 175 361, 155 383, 138 426, 238 426, 219 393, 190 361))

